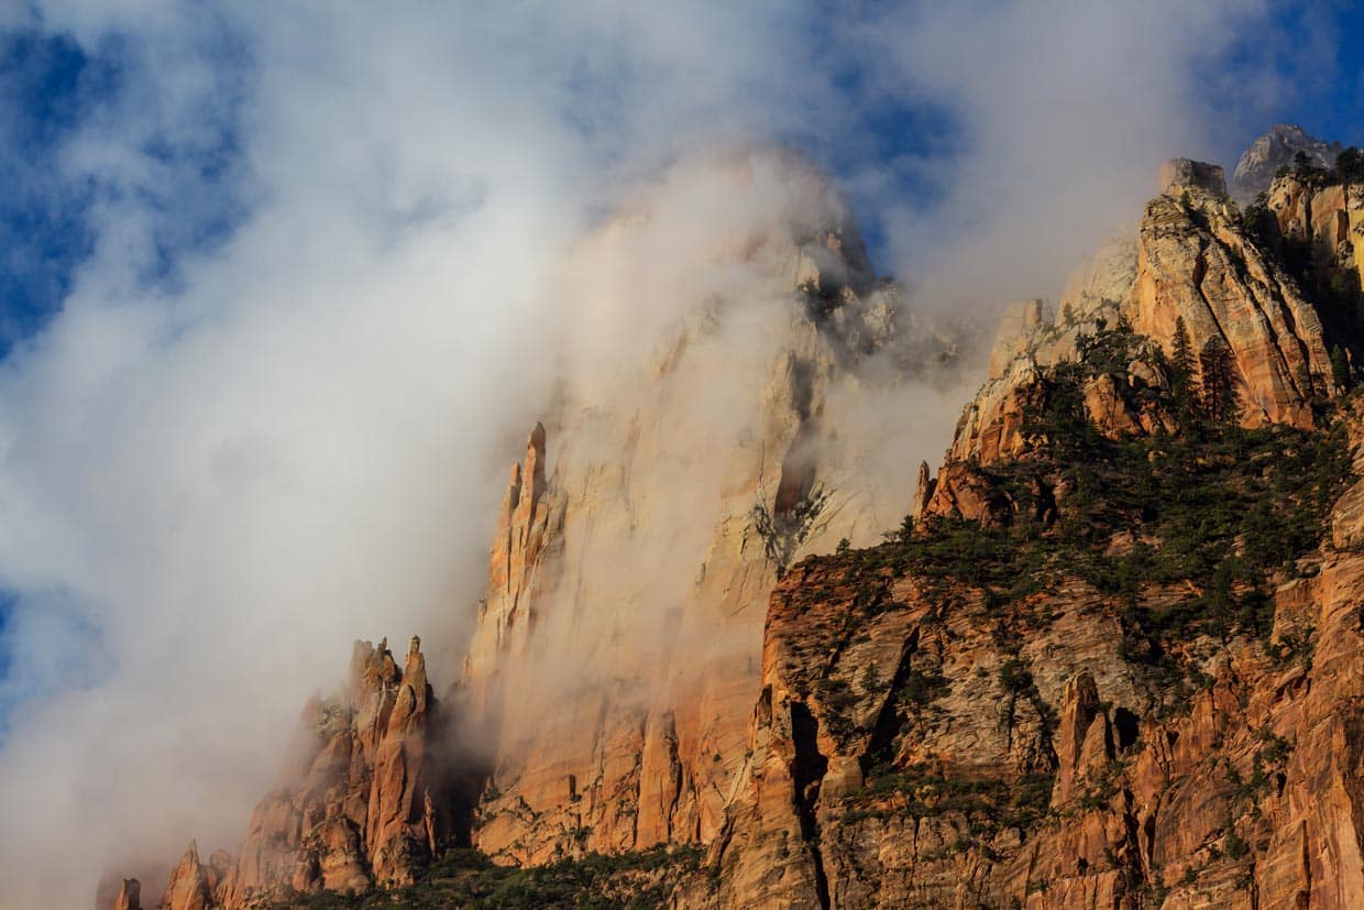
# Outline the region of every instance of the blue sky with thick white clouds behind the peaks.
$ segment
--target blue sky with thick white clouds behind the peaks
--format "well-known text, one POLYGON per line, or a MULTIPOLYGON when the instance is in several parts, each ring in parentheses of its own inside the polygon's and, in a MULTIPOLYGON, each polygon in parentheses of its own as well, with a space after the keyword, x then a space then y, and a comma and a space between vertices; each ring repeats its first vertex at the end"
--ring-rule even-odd
POLYGON ((1254 0, 5 4, 0 905, 231 843, 352 639, 457 637, 582 329, 558 265, 677 162, 794 149, 915 306, 990 314, 1166 157, 1364 143, 1361 33, 1254 0))

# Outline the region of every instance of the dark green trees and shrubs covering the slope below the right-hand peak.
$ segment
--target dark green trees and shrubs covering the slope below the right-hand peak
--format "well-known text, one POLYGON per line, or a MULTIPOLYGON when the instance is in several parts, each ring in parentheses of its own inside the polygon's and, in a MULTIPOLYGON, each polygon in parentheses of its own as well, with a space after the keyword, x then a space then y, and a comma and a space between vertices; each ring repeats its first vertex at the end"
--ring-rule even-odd
POLYGON ((1079 360, 1043 370, 1028 393, 1031 450, 974 468, 989 521, 906 523, 880 547, 844 555, 846 580, 913 573, 930 598, 940 593, 934 585, 966 585, 1016 622, 1030 595, 1079 577, 1120 608, 1124 656, 1170 674, 1172 641, 1266 637, 1274 576, 1296 572, 1315 550, 1350 482, 1344 427, 1241 428, 1234 385, 1219 375, 1229 359, 1202 352, 1199 382, 1183 326, 1169 360, 1125 323, 1099 325, 1078 351, 1079 360), (1132 363, 1162 381, 1128 383, 1132 363), (1166 428, 1117 439, 1099 432, 1084 389, 1103 375, 1132 412, 1166 428))

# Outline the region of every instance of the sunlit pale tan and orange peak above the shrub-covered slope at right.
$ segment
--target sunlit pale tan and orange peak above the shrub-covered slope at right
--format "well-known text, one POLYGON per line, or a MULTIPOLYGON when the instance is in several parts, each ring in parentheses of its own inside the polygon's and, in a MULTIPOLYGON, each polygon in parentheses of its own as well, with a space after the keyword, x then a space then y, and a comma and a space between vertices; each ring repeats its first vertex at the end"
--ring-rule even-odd
MULTIPOLYGON (((1229 351, 1245 426, 1312 426, 1314 401, 1335 394, 1316 308, 1243 226, 1221 168, 1178 160, 1162 169, 1161 183, 1168 192, 1147 203, 1136 243, 1101 248, 1067 287, 1057 318, 1037 300, 1005 317, 989 379, 962 415, 925 513, 988 512, 964 467, 1028 447, 1023 411, 1038 370, 1072 360, 1078 338, 1101 322, 1127 321, 1166 356, 1183 322, 1199 371, 1209 352, 1229 351)), ((1095 379, 1086 389, 1090 417, 1113 437, 1161 428, 1161 415, 1132 405, 1159 382, 1136 362, 1125 375, 1095 379)))

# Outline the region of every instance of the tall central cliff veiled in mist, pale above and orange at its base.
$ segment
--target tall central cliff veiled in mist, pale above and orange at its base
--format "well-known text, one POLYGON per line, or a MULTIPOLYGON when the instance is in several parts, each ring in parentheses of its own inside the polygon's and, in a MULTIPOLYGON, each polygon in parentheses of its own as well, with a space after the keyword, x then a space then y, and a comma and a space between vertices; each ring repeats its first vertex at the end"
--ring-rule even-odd
MULTIPOLYGON (((726 194, 752 194, 757 166, 726 172, 726 194)), ((889 452, 878 465, 866 408, 930 362, 898 347, 898 292, 828 187, 794 179, 799 211, 686 251, 738 289, 697 295, 686 270, 632 300, 682 306, 652 351, 606 357, 610 379, 570 371, 512 469, 462 679, 488 719, 473 839, 499 862, 713 839, 779 569, 903 517, 914 476, 889 452), (859 372, 902 355, 880 392, 859 372)), ((645 205, 584 246, 584 307, 657 217, 645 205)))

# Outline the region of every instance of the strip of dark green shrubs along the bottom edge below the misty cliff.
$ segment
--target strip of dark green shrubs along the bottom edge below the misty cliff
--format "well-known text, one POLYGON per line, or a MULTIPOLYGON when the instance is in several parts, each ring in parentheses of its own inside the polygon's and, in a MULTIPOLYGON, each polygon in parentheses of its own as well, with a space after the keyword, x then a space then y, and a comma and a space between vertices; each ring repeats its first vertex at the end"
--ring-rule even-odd
POLYGON ((498 866, 476 850, 449 850, 416 884, 346 895, 323 891, 276 903, 276 910, 645 910, 666 906, 672 887, 701 865, 700 847, 589 854, 547 866, 498 866))

